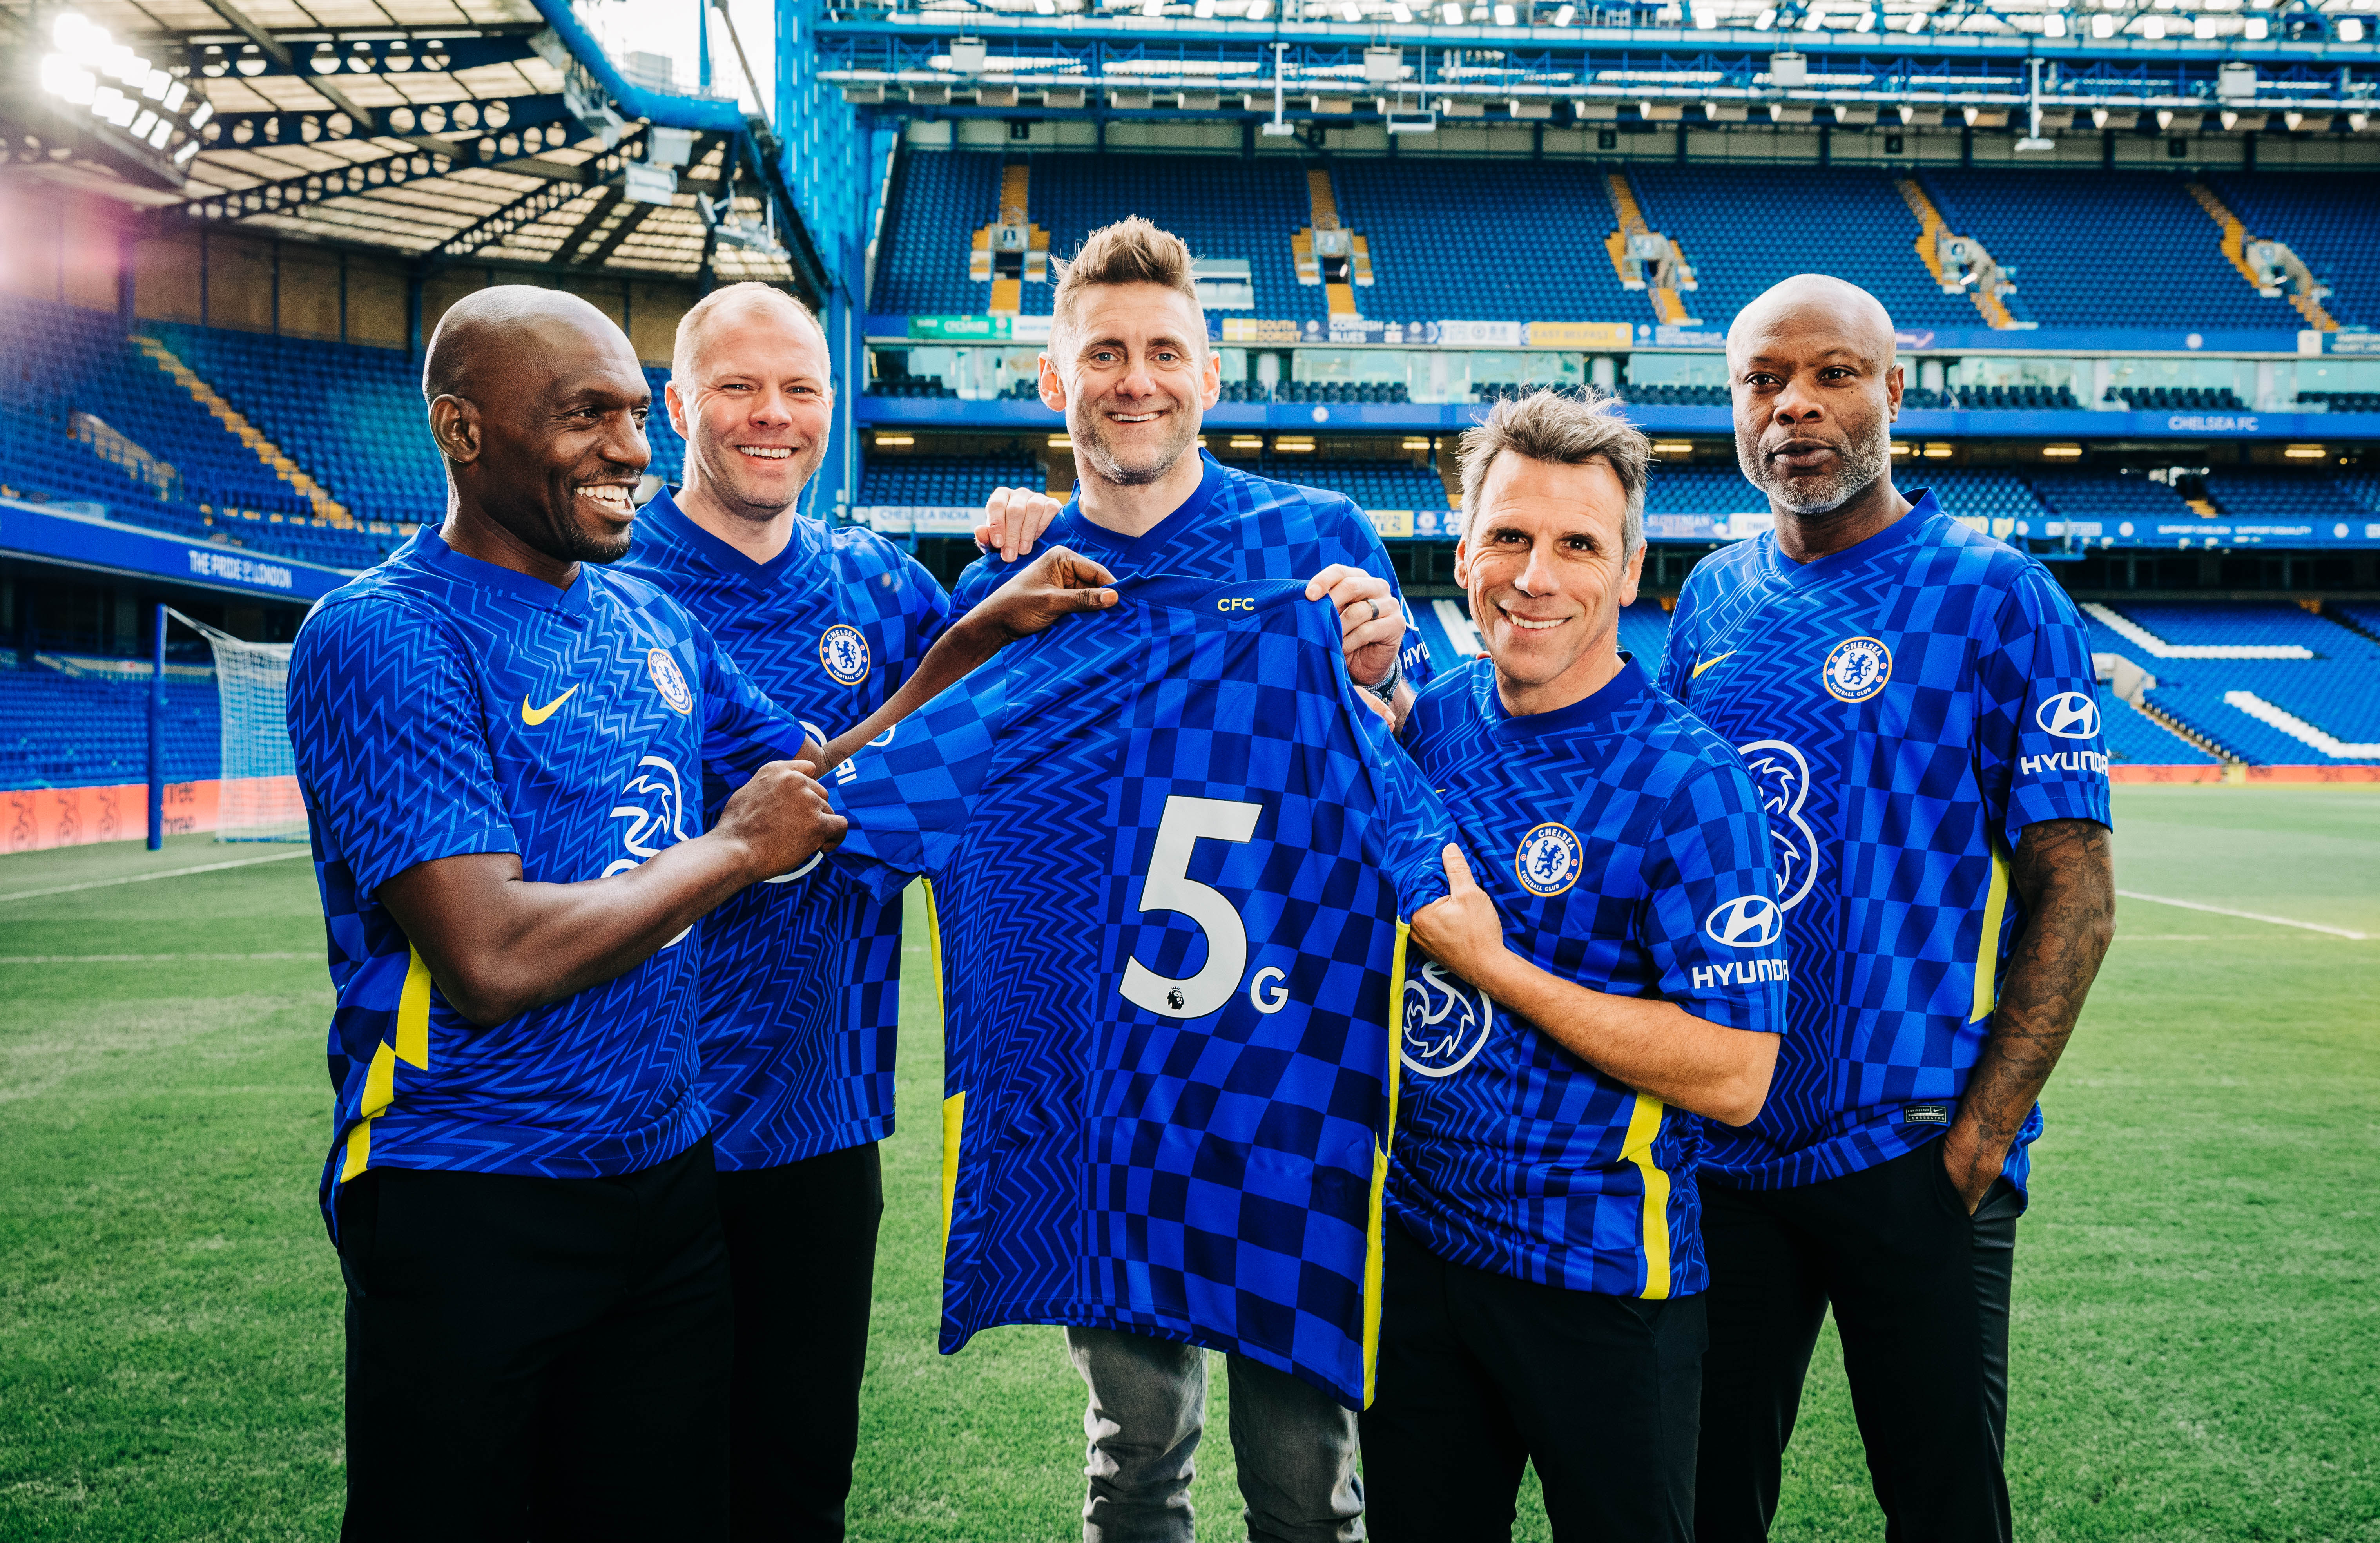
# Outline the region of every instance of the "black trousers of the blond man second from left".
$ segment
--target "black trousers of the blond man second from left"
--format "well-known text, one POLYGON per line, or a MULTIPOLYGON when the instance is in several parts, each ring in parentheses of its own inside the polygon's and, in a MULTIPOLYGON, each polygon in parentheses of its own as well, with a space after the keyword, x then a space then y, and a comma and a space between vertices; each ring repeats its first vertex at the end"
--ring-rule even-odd
POLYGON ((719 1174, 735 1274, 728 1510, 738 1541, 843 1538, 883 1212, 873 1141, 719 1174))

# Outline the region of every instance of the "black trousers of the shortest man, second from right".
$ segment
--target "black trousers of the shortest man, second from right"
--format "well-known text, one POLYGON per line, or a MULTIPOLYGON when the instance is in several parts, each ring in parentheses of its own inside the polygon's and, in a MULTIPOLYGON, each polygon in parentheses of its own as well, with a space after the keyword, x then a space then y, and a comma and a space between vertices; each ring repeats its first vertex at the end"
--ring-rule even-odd
POLYGON ((1559 1543, 1692 1536, 1699 1295, 1516 1281, 1392 1222, 1383 1303, 1361 1419, 1373 1543, 1509 1543, 1526 1462, 1559 1543))

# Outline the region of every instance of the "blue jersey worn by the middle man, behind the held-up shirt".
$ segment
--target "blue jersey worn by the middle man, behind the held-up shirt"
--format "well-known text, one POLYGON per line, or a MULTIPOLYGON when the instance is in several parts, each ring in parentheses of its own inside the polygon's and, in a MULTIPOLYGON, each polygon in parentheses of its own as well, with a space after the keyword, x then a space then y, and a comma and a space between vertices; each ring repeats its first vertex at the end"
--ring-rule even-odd
MULTIPOLYGON (((1354 507, 1345 493, 1323 488, 1299 488, 1273 481, 1254 471, 1226 467, 1200 450, 1197 493, 1183 507, 1166 514, 1140 536, 1119 536, 1083 519, 1081 498, 1066 502, 1050 531, 1033 543, 1033 552, 1016 562, 1002 562, 1000 552, 985 552, 964 574, 952 593, 954 614, 966 614, 978 600, 990 595, 1021 564, 1033 562, 1045 548, 1064 545, 1107 567, 1116 579, 1145 574, 1176 574, 1216 579, 1221 583, 1245 583, 1250 579, 1295 579, 1304 583, 1333 562, 1364 569, 1376 579, 1388 579, 1397 605, 1404 591, 1397 586, 1397 569, 1380 545, 1380 533, 1371 529, 1364 510, 1354 507)), ((1404 679, 1414 686, 1430 681, 1430 645, 1407 621, 1404 648, 1397 650, 1404 679)))

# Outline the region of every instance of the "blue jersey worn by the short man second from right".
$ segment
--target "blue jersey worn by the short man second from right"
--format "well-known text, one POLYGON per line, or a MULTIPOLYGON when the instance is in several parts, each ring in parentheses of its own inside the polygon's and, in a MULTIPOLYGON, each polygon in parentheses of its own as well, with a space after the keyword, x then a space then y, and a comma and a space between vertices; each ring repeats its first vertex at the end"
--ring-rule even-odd
MULTIPOLYGON (((1476 660, 1421 693, 1404 738, 1514 952, 1590 991, 1785 1031, 1759 793, 1633 660, 1595 695, 1528 717, 1476 660)), ((1402 1036, 1390 1205, 1430 1252, 1606 1295, 1709 1283, 1699 1117, 1604 1076, 1433 962, 1407 972, 1402 1036)))

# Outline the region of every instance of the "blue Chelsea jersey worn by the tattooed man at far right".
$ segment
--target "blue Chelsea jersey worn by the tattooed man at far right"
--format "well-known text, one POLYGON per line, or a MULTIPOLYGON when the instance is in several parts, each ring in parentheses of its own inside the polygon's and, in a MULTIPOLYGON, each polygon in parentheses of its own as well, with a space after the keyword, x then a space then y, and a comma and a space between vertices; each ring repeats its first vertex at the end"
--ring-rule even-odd
MULTIPOLYGON (((2033 557, 1921 493, 1797 564, 1775 536, 1704 557, 1661 683, 1742 755, 1792 960, 1761 1117, 1711 1126, 1747 1188, 1856 1174, 1940 1136, 2023 924, 2009 852, 2037 819, 2109 824, 2090 638, 2033 557)), ((2004 1174, 2025 1186, 2035 1107, 2004 1174)))

